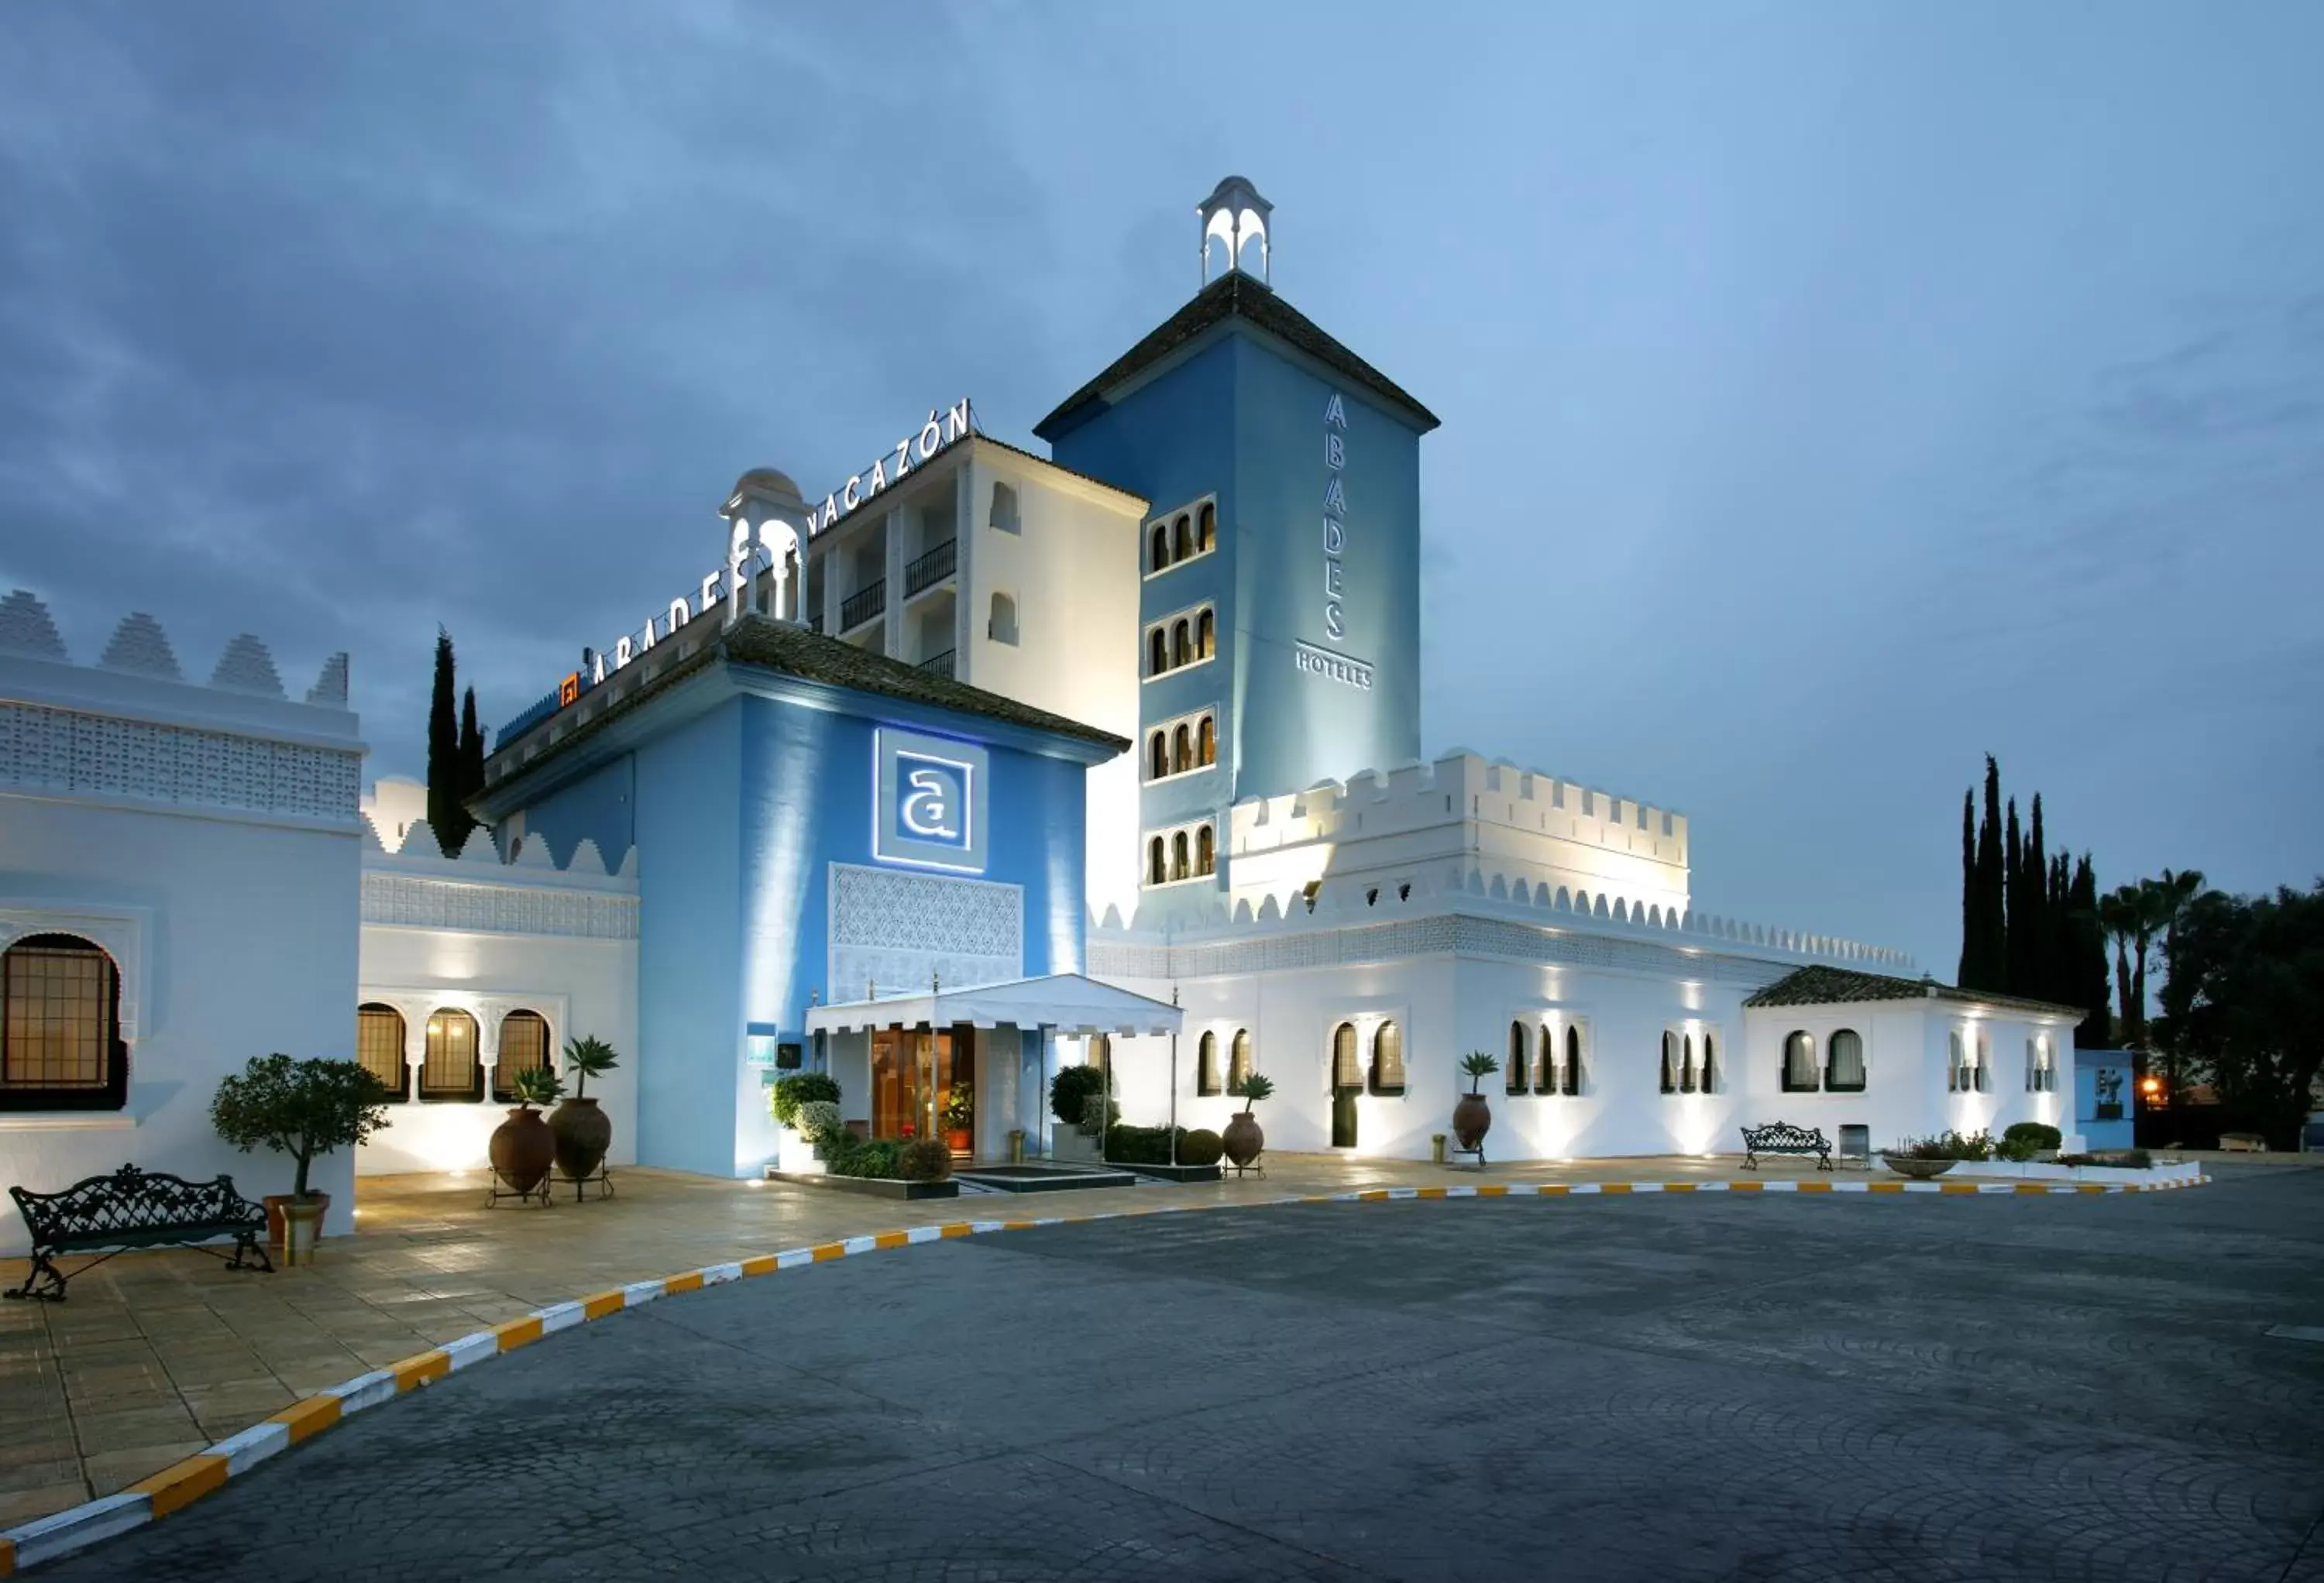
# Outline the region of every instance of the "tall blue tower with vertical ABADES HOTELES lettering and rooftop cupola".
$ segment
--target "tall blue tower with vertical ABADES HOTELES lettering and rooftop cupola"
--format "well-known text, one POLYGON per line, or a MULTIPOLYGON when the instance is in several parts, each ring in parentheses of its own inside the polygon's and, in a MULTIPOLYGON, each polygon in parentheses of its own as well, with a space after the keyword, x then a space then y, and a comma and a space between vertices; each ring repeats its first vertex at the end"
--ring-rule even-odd
POLYGON ((1236 800, 1420 758, 1420 437, 1436 416, 1274 293, 1257 188, 1227 177, 1197 216, 1202 291, 1034 425, 1060 465, 1155 509, 1148 895, 1225 886, 1236 800))

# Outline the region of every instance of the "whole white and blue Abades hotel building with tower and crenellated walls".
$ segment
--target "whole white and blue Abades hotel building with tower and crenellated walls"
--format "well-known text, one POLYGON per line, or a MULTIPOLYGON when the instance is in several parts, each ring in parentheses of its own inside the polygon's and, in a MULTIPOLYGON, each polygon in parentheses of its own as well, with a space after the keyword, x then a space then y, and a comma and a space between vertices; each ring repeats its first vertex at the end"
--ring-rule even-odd
POLYGON ((1504 1062, 1494 1160, 2071 1125, 2078 1011, 1713 916, 1683 814, 1422 758, 1436 418, 1269 288, 1264 225, 1220 184, 1215 279, 1034 425, 1048 458, 960 402, 823 497, 746 472, 718 570, 500 730, 456 858, 409 783, 358 809, 344 656, 290 702, 256 639, 198 683, 132 616, 91 665, 9 595, 0 1176, 267 1190, 207 1104, 272 1048, 400 1095, 330 1169, 479 1167, 509 1074, 569 1034, 625 1055, 614 1165, 713 1174, 774 1158, 792 1062, 869 1130, 934 1125, 934 1046, 976 1153, 1039 1146, 1069 1060, 1148 1125, 1220 1127, 1264 1072, 1278 1151, 1427 1158, 1469 1051, 1504 1062), (913 835, 913 774, 974 809, 934 825, 957 848, 913 835), (734 862, 706 876, 704 841, 734 862), (932 981, 1009 1013, 881 1009, 932 981))

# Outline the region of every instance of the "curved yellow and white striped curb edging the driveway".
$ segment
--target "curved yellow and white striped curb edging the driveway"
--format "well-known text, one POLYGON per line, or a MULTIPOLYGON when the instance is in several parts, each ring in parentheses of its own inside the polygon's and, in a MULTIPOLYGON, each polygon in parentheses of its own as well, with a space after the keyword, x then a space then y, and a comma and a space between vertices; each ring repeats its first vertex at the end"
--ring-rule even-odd
POLYGON ((490 1330, 479 1330, 474 1334, 460 1337, 458 1341, 446 1341, 444 1346, 432 1346, 425 1353, 414 1353, 402 1362, 388 1364, 386 1369, 372 1369, 370 1374, 358 1374, 351 1381, 321 1390, 311 1397, 300 1397, 284 1411, 274 1413, 263 1423, 253 1423, 239 1434, 228 1434, 223 1441, 214 1444, 209 1451, 200 1451, 184 1462, 174 1462, 151 1478, 132 1483, 119 1495, 107 1495, 102 1499, 72 1506, 70 1511, 58 1511, 46 1518, 35 1518, 7 1532, 0 1532, 0 1578, 14 1576, 26 1567, 37 1567, 40 1562, 58 1560, 72 1555, 100 1539, 112 1539, 114 1534, 125 1534, 132 1527, 144 1527, 156 1518, 165 1518, 181 1506, 191 1506, 211 1490, 225 1485, 228 1478, 246 1474, 279 1451, 297 1446, 302 1439, 321 1434, 335 1423, 344 1420, 349 1413, 360 1413, 367 1406, 379 1406, 409 1390, 421 1390, 439 1378, 458 1374, 472 1364, 488 1358, 500 1358, 502 1353, 514 1353, 521 1346, 532 1346, 541 1337, 551 1337, 560 1330, 572 1330, 574 1325, 588 1325, 590 1320, 607 1318, 609 1313, 621 1313, 625 1309, 639 1309, 660 1297, 674 1297, 679 1292, 695 1292, 704 1285, 725 1285, 727 1281, 744 1281, 748 1276, 772 1276, 779 1269, 802 1269, 806 1265, 825 1265, 830 1260, 851 1258, 855 1253, 881 1253, 885 1248, 906 1248, 923 1241, 948 1241, 953 1237, 990 1237, 992 1232, 1030 1232, 1046 1225, 1085 1225, 1092 1220, 1129 1220, 1139 1216, 1171 1216, 1190 1213, 1202 1209, 1276 1209, 1283 1204, 1380 1204, 1380 1202, 1406 1202, 1406 1199, 1462 1199, 1462 1197, 1606 1197, 1606 1195, 1638 1195, 1638 1192, 1878 1192, 1878 1195, 1903 1195, 1903 1192, 1938 1192, 1948 1197, 1966 1195, 2020 1195, 2020 1192, 2066 1192, 2066 1195, 2096 1195, 2096 1192, 2164 1192, 2168 1188, 2199 1188, 2205 1186, 2210 1176, 2196 1176, 2192 1181, 2154 1181, 2154 1183, 2096 1183, 2096 1181, 1794 1181, 1794 1179, 1769 1179, 1769 1181, 1543 1181, 1543 1183, 1462 1183, 1446 1188, 1350 1188, 1346 1192, 1294 1192, 1287 1197, 1271 1199, 1243 1199, 1227 1204, 1150 1204, 1141 1209, 1109 1209, 1088 1216, 1039 1216, 1020 1220, 948 1220, 944 1225, 913 1225, 897 1232, 876 1232, 871 1237, 846 1237, 841 1241, 820 1241, 806 1248, 786 1248, 783 1253, 760 1253, 758 1258, 734 1260, 727 1265, 706 1265, 702 1269, 688 1269, 676 1276, 662 1276, 660 1281, 632 1281, 627 1285, 614 1285, 588 1297, 576 1297, 574 1302, 558 1302, 546 1309, 535 1309, 523 1318, 507 1320, 504 1325, 493 1325, 490 1330))

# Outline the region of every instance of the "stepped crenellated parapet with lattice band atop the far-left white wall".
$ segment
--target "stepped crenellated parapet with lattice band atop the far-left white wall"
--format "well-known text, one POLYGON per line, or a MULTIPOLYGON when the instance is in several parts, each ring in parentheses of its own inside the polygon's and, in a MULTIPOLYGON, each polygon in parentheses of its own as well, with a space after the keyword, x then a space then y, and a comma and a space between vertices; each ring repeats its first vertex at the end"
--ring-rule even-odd
POLYGON ((46 604, 21 588, 0 600, 0 790, 353 830, 356 728, 344 653, 293 702, 249 632, 188 681, 144 611, 79 665, 46 604))

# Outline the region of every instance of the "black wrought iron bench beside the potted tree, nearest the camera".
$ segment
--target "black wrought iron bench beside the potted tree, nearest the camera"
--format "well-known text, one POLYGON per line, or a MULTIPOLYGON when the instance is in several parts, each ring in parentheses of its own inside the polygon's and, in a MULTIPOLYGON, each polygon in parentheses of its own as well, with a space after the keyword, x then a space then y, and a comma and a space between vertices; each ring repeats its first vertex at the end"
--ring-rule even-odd
POLYGON ((74 1269, 77 1276, 130 1248, 198 1246, 216 1237, 235 1239, 232 1258, 216 1248, 202 1253, 216 1253, 228 1269, 274 1269, 260 1241, 267 1211, 235 1192, 232 1176, 186 1181, 123 1165, 112 1176, 91 1176, 60 1192, 9 1188, 7 1195, 16 1199, 16 1213, 33 1239, 33 1269, 7 1297, 63 1302, 72 1276, 51 1262, 60 1253, 102 1255, 74 1269), (253 1258, 256 1265, 249 1262, 253 1258))

